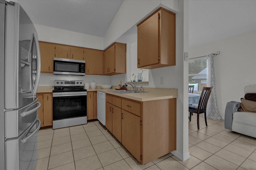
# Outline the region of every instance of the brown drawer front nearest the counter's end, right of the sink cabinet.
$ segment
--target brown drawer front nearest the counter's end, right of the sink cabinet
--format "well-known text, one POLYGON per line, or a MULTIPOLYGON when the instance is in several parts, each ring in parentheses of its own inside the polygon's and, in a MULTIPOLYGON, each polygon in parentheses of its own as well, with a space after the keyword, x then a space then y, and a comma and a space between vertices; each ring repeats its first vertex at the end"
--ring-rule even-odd
POLYGON ((122 109, 124 109, 130 113, 133 113, 135 115, 140 116, 140 111, 141 111, 140 108, 141 108, 140 103, 122 99, 122 109))

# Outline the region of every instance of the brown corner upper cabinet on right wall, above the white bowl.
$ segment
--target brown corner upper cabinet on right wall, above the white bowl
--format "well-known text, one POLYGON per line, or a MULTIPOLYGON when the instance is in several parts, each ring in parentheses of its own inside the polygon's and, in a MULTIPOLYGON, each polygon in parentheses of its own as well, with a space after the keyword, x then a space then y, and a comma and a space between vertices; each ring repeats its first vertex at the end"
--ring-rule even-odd
POLYGON ((115 42, 104 52, 104 75, 126 73, 126 44, 115 42))

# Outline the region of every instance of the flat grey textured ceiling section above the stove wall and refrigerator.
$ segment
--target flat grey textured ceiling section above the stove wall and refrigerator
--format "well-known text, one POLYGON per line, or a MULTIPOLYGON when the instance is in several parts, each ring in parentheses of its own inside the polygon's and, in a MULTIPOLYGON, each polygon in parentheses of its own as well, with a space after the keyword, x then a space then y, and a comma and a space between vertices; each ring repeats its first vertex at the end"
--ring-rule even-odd
POLYGON ((123 0, 16 0, 34 24, 104 37, 123 0))

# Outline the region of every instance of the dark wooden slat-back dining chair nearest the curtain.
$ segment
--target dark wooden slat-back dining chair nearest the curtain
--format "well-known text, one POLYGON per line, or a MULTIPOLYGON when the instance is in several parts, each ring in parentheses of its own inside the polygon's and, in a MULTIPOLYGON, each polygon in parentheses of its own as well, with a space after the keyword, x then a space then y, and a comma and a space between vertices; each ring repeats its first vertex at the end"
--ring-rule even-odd
POLYGON ((190 113, 189 115, 189 121, 191 121, 191 116, 192 113, 197 114, 197 128, 199 129, 199 114, 204 113, 204 120, 205 120, 205 125, 207 126, 207 121, 206 121, 206 106, 208 103, 208 99, 210 97, 210 93, 212 91, 212 87, 204 87, 199 99, 198 106, 194 105, 188 105, 188 111, 190 113))

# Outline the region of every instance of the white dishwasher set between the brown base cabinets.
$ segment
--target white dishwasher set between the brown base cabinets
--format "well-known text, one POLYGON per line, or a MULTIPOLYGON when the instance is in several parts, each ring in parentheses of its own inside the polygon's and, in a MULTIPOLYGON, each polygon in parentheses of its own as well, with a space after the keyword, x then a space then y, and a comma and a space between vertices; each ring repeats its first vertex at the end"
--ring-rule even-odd
POLYGON ((100 91, 97 92, 97 118, 102 125, 106 125, 106 93, 100 91))

